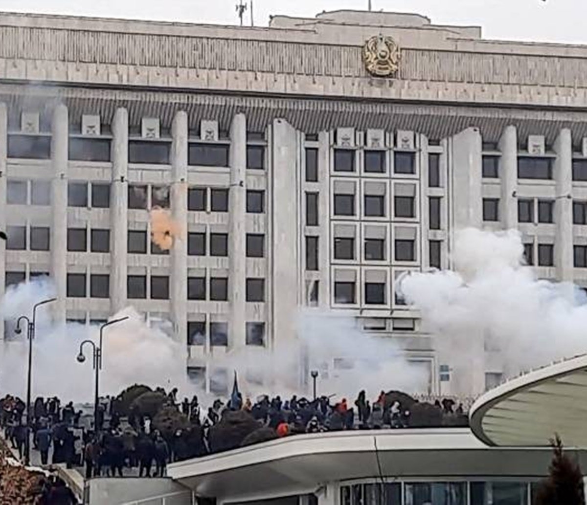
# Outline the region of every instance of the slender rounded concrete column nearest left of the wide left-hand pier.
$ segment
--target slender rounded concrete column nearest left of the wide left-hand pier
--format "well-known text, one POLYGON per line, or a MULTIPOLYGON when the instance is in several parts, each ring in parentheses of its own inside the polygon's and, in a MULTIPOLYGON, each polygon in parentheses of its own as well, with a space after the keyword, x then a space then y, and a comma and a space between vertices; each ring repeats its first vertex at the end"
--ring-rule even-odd
POLYGON ((228 195, 228 297, 230 301, 228 345, 231 348, 242 347, 246 343, 246 182, 247 120, 244 114, 237 114, 232 119, 230 127, 230 191, 228 195))

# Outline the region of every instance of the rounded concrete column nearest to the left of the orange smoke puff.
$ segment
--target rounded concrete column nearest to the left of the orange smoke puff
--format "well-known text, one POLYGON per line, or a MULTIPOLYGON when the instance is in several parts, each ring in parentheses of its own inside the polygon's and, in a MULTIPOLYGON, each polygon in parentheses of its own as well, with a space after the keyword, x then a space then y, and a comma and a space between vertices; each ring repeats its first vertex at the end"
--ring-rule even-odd
POLYGON ((110 311, 126 306, 129 209, 129 113, 117 109, 112 124, 112 185, 110 187, 110 311))

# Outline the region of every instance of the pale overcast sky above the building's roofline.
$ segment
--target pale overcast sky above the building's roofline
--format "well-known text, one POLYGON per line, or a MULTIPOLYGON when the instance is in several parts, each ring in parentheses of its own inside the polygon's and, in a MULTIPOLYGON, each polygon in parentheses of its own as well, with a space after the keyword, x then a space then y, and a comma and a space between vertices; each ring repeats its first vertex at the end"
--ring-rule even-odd
MULTIPOLYGON (((237 1, 0 0, 0 9, 234 24, 238 22, 237 1)), ((312 17, 323 10, 366 9, 368 0, 253 1, 255 24, 266 26, 271 14, 312 17)), ((372 0, 372 3, 373 10, 417 12, 431 18, 433 23, 481 25, 485 38, 587 44, 587 0, 372 0)), ((247 23, 250 23, 249 13, 245 14, 247 23)))

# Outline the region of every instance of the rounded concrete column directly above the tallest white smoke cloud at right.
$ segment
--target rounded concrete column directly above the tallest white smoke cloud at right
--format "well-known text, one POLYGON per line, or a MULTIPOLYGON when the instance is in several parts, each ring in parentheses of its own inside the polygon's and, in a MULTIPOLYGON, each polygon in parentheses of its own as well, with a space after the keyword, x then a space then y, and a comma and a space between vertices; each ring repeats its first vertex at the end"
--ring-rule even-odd
POLYGON ((501 151, 500 221, 504 229, 518 228, 518 133, 515 126, 505 127, 498 147, 501 151))

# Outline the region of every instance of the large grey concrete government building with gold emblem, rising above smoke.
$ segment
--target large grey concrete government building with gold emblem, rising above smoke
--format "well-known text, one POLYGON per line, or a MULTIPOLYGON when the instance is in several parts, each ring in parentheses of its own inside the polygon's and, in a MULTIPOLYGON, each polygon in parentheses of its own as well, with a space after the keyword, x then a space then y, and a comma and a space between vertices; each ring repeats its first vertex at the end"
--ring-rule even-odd
POLYGON ((301 307, 393 338, 424 393, 498 384, 483 341, 453 365, 396 289, 449 268, 467 226, 518 228, 539 277, 587 286, 585 46, 357 11, 2 13, 0 40, 0 295, 49 275, 56 321, 134 306, 208 389, 215 358, 295 338, 301 307))

